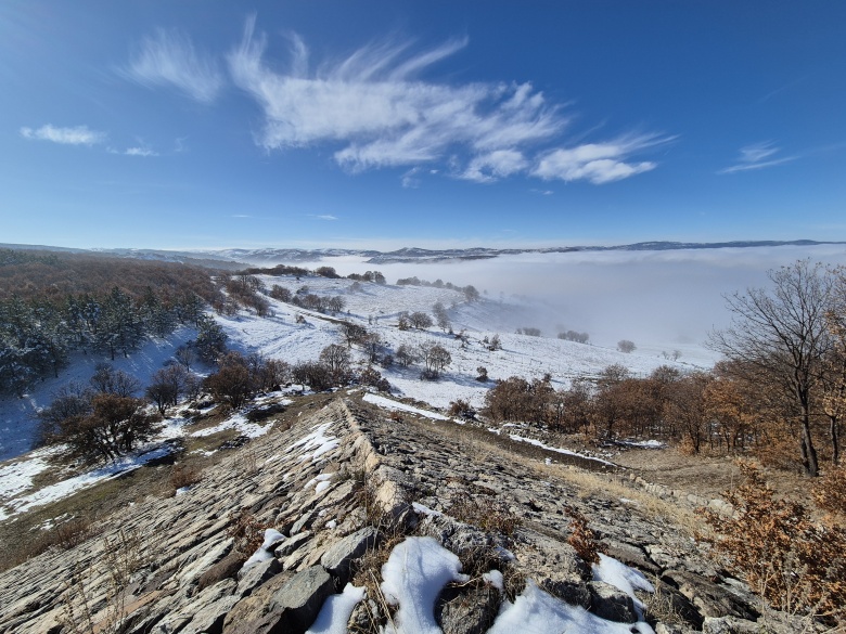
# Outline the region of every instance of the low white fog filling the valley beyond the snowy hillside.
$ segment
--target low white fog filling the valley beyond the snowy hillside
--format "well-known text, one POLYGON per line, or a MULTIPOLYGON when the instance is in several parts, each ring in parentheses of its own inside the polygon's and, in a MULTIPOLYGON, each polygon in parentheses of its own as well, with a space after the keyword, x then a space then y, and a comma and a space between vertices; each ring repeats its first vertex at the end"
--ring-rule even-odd
POLYGON ((767 271, 810 258, 846 263, 846 248, 755 247, 662 251, 522 254, 435 263, 367 264, 332 258, 306 264, 332 266, 338 273, 382 271, 388 282, 418 276, 459 286, 474 285, 488 299, 516 296, 530 305, 525 323, 543 336, 587 332, 590 342, 614 347, 634 341, 644 353, 679 350, 682 359, 707 361, 707 334, 729 323, 725 294, 767 286, 767 271))

